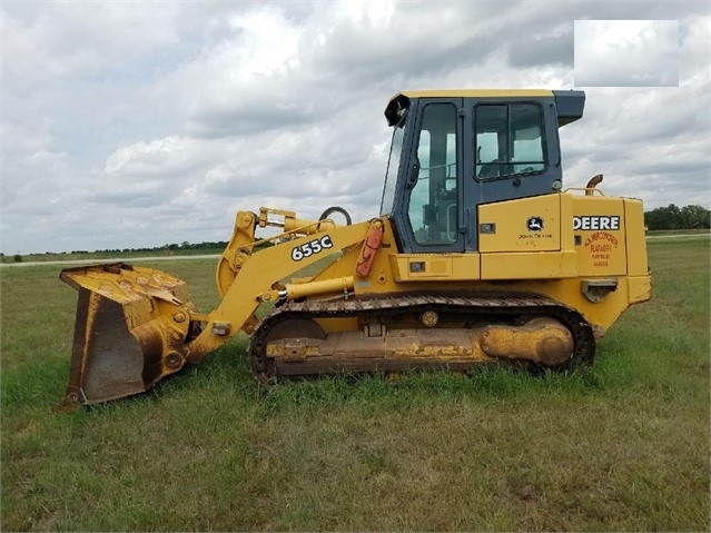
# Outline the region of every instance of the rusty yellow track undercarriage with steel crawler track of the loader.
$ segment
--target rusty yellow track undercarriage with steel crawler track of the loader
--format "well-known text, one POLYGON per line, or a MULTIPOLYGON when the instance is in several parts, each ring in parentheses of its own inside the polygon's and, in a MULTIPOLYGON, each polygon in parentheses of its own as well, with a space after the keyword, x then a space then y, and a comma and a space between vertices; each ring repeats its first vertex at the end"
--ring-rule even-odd
POLYGON ((338 372, 473 369, 513 362, 571 368, 592 363, 592 328, 575 310, 534 295, 412 295, 287 303, 257 326, 249 358, 265 385, 338 372), (327 333, 317 320, 354 320, 327 333))

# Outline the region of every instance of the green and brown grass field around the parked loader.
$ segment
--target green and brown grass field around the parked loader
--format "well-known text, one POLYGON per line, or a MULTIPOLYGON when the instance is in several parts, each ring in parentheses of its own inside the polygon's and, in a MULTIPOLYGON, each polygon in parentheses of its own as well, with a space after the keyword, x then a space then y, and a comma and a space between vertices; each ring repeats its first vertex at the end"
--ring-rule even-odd
MULTIPOLYGON (((76 295, 0 272, 1 531, 709 531, 709 238, 649 244, 653 300, 591 371, 253 382, 236 338, 152 392, 50 413, 76 295)), ((205 309, 213 260, 162 261, 205 309)))

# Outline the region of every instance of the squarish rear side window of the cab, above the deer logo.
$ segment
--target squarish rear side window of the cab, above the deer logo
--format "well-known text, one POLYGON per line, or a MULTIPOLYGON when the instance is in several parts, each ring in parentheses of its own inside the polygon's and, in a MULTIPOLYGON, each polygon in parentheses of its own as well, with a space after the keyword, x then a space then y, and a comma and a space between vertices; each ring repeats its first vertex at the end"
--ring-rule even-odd
POLYGON ((478 105, 474 111, 474 124, 477 178, 536 174, 545 168, 540 106, 478 105))

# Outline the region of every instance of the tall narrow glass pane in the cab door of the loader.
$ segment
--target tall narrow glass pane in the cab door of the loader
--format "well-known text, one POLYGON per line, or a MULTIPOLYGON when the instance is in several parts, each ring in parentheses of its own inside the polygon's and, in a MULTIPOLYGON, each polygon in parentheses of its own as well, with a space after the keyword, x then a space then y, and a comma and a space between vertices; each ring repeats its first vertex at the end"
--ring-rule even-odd
POLYGON ((457 240, 457 110, 451 103, 425 107, 417 144, 416 180, 408 187, 407 217, 415 241, 443 245, 457 240))

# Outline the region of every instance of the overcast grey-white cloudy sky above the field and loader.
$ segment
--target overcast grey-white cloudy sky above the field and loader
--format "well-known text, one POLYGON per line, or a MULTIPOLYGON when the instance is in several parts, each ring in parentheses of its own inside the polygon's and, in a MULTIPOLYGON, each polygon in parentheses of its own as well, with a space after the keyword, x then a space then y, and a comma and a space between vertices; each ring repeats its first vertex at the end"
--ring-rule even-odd
POLYGON ((237 210, 377 216, 401 90, 583 89, 565 187, 710 205, 702 1, 8 1, 0 251, 229 240, 237 210))

